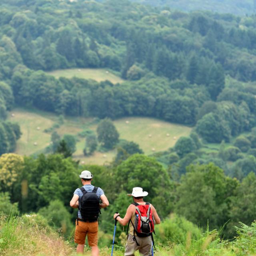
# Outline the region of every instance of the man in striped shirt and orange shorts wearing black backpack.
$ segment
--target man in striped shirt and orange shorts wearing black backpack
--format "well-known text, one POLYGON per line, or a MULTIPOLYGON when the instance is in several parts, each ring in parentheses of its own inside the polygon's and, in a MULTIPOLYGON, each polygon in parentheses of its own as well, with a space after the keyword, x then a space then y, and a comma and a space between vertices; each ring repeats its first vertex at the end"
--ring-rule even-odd
POLYGON ((93 175, 90 171, 82 171, 79 178, 81 178, 83 186, 75 190, 70 201, 72 208, 78 208, 74 239, 77 244, 76 252, 83 254, 87 236, 88 244, 92 248, 92 256, 98 256, 100 255, 98 249, 98 216, 100 208, 107 207, 109 203, 104 191, 91 184, 93 175))

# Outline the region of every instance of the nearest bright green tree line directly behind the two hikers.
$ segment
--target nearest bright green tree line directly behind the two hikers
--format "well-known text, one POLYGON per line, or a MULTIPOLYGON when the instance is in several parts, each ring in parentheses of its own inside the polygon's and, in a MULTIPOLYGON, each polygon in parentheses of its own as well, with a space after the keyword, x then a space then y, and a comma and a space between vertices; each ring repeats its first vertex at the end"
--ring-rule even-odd
POLYGON ((84 169, 94 174, 93 183, 103 188, 110 200, 110 207, 100 216, 101 230, 106 233, 112 230, 113 212, 118 208, 124 214, 131 203, 126 194, 134 186, 149 192, 146 200, 154 204, 161 218, 174 212, 203 228, 209 225, 210 230, 227 222, 226 238, 234 236, 233 226, 239 221, 250 224, 254 220, 256 174, 251 172, 239 181, 213 163, 191 164, 178 182, 170 170, 143 154, 133 154, 109 166, 80 165, 63 154, 41 154, 36 159, 3 154, 0 167, 0 193, 8 205, 1 211, 15 204, 19 212, 38 212, 51 225, 61 227, 66 222, 67 232, 72 230, 70 221, 76 218, 69 201, 80 187, 78 175, 84 169), (60 212, 62 218, 58 217, 60 212))

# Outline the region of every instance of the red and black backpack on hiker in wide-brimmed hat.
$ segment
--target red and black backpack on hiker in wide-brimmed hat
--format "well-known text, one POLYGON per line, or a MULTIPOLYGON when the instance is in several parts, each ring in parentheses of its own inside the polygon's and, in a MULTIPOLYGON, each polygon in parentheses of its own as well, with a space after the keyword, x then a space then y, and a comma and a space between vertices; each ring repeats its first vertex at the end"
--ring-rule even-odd
POLYGON ((131 222, 134 228, 133 240, 136 242, 138 246, 139 244, 136 240, 135 232, 139 237, 152 236, 152 241, 154 244, 153 235, 152 235, 152 233, 154 232, 154 217, 152 215, 150 203, 146 203, 146 204, 132 203, 132 204, 136 206, 135 222, 132 223, 132 220, 129 220, 127 234, 128 234, 129 224, 131 222))

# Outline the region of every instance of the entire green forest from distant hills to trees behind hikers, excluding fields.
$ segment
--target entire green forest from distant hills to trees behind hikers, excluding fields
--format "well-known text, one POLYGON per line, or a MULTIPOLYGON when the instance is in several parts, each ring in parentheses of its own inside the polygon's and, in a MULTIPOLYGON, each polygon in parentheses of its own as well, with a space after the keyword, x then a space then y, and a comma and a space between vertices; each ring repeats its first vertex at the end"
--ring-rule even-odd
MULTIPOLYGON (((88 169, 110 201, 99 220, 102 247, 111 243, 112 214, 120 209, 124 215, 126 194, 141 186, 164 220, 159 248, 168 251, 181 240, 185 248, 188 232, 200 240, 202 234, 216 238, 209 232, 219 230, 207 245, 212 254, 202 254, 217 255, 214 248, 238 234, 244 238, 244 230, 256 237, 256 16, 234 15, 252 14, 253 3, 233 3, 239 12, 228 14, 196 6, 183 12, 183 1, 149 2, 2 0, 0 212, 36 214, 72 243, 76 210, 69 201, 80 187, 78 175, 88 169), (70 68, 104 68, 124 82, 48 73, 70 68), (42 154, 14 153, 22 135, 8 118, 14 108, 58 116, 58 124, 44 131, 52 144, 42 154), (112 123, 135 116, 192 130, 174 147, 148 156, 132 138, 120 140, 112 123), (84 155, 116 148, 112 162, 73 159, 76 138, 57 132, 64 117, 94 118, 96 132, 80 134, 84 155)), ((117 233, 124 234, 121 228, 117 233)), ((7 253, 1 239, 0 252, 7 253)), ((238 247, 235 255, 250 255, 256 243, 238 247)))

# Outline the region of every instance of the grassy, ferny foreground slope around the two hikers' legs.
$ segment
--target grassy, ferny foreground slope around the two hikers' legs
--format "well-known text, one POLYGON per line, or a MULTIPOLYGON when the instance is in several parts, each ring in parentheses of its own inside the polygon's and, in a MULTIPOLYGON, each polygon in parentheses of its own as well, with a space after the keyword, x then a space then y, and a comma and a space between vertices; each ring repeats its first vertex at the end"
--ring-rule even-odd
MULTIPOLYGON (((255 255, 256 250, 256 224, 246 226, 242 224, 242 228, 238 230, 236 240, 232 242, 223 242, 219 238, 216 230, 206 231, 204 233, 200 230, 195 232, 196 228, 192 228, 187 221, 186 226, 180 228, 177 224, 172 224, 170 220, 166 220, 169 228, 172 227, 169 234, 166 233, 168 226, 162 226, 157 230, 156 237, 156 256, 236 256, 236 255, 255 255), (188 227, 192 230, 186 230, 188 227), (161 231, 162 229, 162 231, 161 231), (181 233, 179 233, 181 232, 181 233), (165 240, 169 241, 168 245, 159 244, 161 235, 165 240), (178 236, 180 239, 178 239, 178 236), (171 239, 172 238, 172 239, 171 239), (177 240, 178 239, 178 240, 177 240)), ((179 223, 180 224, 180 223, 179 223)), ((118 228, 120 228, 118 226, 118 228)), ((6 217, 0 218, 0 255, 2 256, 75 256, 75 244, 64 240, 50 226, 48 226, 46 219, 40 215, 24 215, 22 217, 6 217)), ((125 243, 125 236, 116 237, 116 241, 123 240, 125 243)), ((111 237, 108 238, 109 243, 111 237)), ((165 241, 165 243, 166 243, 165 241)), ((124 247, 114 247, 114 256, 124 255, 124 247)), ((101 256, 108 256, 111 253, 111 246, 100 248, 101 256)), ((85 247, 84 255, 89 256, 90 249, 85 247)), ((138 252, 135 256, 139 256, 138 252)))

